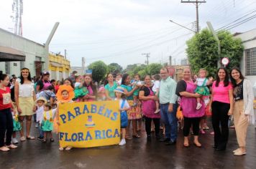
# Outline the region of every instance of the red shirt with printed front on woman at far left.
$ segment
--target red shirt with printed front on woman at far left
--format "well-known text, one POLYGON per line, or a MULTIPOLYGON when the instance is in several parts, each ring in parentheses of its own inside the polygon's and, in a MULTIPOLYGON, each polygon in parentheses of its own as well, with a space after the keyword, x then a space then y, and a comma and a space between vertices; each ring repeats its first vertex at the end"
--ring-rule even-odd
POLYGON ((6 87, 6 90, 0 89, 0 110, 11 108, 11 102, 12 100, 10 88, 6 87))

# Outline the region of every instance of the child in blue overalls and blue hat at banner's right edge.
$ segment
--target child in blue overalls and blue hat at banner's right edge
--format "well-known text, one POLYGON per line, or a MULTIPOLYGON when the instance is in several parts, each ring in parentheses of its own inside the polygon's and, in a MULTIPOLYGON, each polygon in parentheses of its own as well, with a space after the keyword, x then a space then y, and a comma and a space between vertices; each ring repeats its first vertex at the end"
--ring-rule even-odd
POLYGON ((127 110, 129 110, 129 103, 125 99, 124 95, 124 89, 122 87, 117 87, 114 90, 116 94, 116 99, 119 101, 119 110, 120 110, 120 119, 121 119, 121 130, 122 130, 122 140, 119 143, 119 145, 125 145, 125 135, 126 135, 126 127, 128 125, 128 116, 127 116, 127 110))

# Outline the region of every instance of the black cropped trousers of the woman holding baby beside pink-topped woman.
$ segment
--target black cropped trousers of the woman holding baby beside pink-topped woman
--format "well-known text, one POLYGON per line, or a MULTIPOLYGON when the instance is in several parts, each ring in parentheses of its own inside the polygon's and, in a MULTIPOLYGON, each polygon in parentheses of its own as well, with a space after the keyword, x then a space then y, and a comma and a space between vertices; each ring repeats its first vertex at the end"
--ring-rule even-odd
POLYGON ((184 117, 184 125, 183 125, 183 135, 184 137, 188 137, 189 132, 191 130, 191 125, 193 129, 193 135, 199 134, 199 123, 201 117, 184 117))

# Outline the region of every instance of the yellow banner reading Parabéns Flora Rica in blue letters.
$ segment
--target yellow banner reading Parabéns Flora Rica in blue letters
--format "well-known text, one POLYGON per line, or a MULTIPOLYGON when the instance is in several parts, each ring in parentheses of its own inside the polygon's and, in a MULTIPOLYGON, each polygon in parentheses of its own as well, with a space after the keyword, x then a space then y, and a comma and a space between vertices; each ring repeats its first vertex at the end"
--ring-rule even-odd
POLYGON ((60 147, 91 148, 120 141, 118 101, 71 102, 59 105, 60 147))

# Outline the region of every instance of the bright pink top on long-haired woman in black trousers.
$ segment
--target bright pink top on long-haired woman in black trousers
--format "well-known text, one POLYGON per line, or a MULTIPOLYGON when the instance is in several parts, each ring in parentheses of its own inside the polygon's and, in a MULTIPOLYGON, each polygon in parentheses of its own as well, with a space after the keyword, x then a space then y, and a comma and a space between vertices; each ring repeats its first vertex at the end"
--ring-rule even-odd
POLYGON ((215 86, 216 81, 212 84, 213 101, 230 103, 229 102, 229 90, 232 90, 232 84, 229 82, 227 87, 224 87, 224 82, 219 82, 219 86, 215 86))

